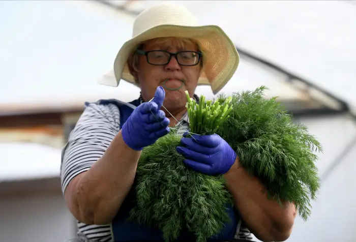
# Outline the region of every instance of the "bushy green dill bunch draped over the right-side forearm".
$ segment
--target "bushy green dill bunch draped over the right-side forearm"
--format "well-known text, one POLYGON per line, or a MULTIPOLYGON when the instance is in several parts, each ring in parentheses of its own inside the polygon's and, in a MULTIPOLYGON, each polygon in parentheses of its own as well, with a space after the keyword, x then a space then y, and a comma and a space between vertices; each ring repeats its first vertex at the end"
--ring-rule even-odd
MULTIPOLYGON (((266 87, 234 93, 233 109, 217 134, 235 150, 241 165, 257 176, 270 198, 293 202, 299 215, 310 216, 310 198, 315 199, 319 177, 315 161, 321 145, 307 127, 294 124, 276 98, 263 98, 266 87)), ((220 95, 223 103, 227 97, 220 95)))

